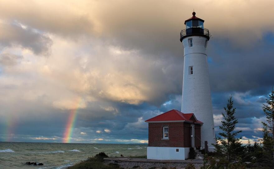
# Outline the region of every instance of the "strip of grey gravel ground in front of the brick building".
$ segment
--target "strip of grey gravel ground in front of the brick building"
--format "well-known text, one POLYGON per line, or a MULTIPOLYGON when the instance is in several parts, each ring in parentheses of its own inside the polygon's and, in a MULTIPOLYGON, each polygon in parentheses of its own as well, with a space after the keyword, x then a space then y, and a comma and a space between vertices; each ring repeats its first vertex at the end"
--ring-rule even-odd
MULTIPOLYGON (((184 169, 188 163, 166 163, 166 162, 128 162, 128 161, 112 161, 112 160, 104 160, 105 164, 109 163, 117 163, 120 167, 123 168, 132 168, 134 166, 139 166, 142 169, 149 169, 151 167, 162 168, 166 167, 167 169, 170 167, 176 167, 176 169, 184 169)), ((203 164, 201 163, 193 163, 196 169, 199 169, 203 164)))

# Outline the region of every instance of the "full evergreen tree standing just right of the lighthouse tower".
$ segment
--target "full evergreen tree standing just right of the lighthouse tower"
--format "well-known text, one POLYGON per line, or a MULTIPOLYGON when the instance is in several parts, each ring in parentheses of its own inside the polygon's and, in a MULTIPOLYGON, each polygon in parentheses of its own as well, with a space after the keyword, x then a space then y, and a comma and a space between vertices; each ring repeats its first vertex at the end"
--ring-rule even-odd
POLYGON ((220 149, 228 162, 233 162, 239 158, 244 149, 244 147, 241 147, 241 138, 236 138, 242 131, 234 131, 238 123, 238 120, 234 116, 235 110, 233 108, 232 96, 230 96, 226 107, 224 107, 225 113, 222 113, 224 121, 222 121, 222 126, 219 127, 223 132, 219 133, 221 137, 217 137, 221 145, 215 144, 215 149, 220 149))

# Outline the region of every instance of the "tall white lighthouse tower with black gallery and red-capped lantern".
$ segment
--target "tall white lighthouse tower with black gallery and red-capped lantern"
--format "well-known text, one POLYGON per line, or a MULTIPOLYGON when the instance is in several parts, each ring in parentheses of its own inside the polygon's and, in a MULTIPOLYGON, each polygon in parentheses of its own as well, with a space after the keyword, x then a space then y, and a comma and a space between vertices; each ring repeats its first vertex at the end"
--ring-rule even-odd
POLYGON ((207 141, 209 151, 213 151, 211 143, 216 142, 206 54, 210 33, 204 28, 204 20, 195 14, 193 12, 193 16, 185 21, 186 29, 181 31, 180 37, 184 48, 181 111, 194 113, 204 123, 201 126, 201 147, 207 141))

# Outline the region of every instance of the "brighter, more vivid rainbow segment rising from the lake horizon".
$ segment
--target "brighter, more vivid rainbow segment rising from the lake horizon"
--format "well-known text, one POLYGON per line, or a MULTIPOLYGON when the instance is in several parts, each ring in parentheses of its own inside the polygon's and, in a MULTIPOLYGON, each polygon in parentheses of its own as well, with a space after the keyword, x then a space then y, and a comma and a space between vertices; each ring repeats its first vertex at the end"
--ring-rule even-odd
POLYGON ((77 110, 79 109, 80 105, 81 105, 82 99, 79 98, 76 101, 76 104, 74 106, 74 109, 72 109, 69 113, 69 118, 66 124, 66 128, 65 128, 65 132, 64 132, 64 137, 63 137, 63 142, 64 143, 69 143, 70 139, 71 139, 71 135, 73 133, 73 128, 75 125, 75 121, 77 118, 77 110))

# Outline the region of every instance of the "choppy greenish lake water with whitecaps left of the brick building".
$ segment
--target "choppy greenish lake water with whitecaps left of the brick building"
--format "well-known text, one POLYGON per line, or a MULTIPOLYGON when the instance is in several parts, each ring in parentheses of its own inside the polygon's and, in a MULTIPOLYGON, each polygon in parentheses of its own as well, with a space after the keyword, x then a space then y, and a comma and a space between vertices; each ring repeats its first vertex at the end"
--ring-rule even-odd
POLYGON ((61 169, 73 165, 99 152, 109 157, 144 156, 145 144, 83 144, 83 143, 40 143, 0 142, 0 168, 61 169), (26 165, 40 162, 43 166, 26 165))

